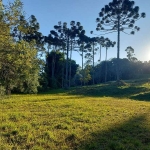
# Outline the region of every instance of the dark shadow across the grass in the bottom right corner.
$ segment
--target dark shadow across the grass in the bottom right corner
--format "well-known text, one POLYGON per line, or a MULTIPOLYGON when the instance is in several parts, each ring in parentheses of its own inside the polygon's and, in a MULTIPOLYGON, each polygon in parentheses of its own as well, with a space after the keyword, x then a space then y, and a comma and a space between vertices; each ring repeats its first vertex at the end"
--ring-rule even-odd
MULTIPOLYGON (((103 132, 93 132, 75 149, 80 150, 149 150, 150 126, 145 127, 146 115, 113 126, 103 132)), ((147 120, 148 122, 148 120, 147 120)))

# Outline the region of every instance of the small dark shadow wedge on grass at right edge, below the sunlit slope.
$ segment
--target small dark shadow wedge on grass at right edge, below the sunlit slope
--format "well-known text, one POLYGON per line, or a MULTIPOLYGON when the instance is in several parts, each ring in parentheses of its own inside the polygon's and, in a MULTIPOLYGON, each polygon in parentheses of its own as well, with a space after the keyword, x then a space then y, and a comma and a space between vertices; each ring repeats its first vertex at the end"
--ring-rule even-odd
POLYGON ((131 96, 130 99, 139 100, 139 101, 149 101, 150 102, 150 92, 138 94, 131 96))

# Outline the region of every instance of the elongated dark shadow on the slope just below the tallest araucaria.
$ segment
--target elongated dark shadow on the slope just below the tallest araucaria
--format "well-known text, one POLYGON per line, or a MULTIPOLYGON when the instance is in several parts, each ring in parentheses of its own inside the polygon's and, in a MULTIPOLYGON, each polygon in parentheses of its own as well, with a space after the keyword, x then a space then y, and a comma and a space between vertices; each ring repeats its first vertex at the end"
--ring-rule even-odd
POLYGON ((70 91, 70 94, 92 96, 92 97, 114 97, 114 98, 130 98, 134 94, 148 91, 144 87, 128 86, 117 87, 113 85, 105 86, 89 86, 80 87, 70 91))

